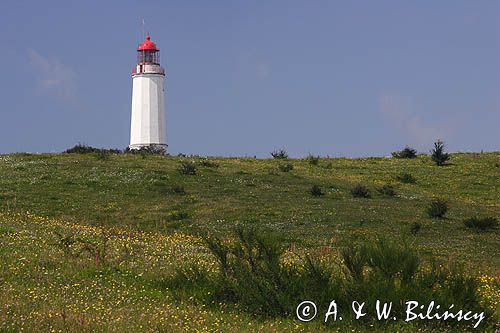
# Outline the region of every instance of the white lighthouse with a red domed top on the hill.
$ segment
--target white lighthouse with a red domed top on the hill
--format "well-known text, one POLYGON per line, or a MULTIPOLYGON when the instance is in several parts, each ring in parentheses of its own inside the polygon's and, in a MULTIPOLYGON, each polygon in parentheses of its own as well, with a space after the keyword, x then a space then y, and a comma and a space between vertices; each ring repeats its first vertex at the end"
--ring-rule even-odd
POLYGON ((150 36, 137 48, 137 65, 132 70, 131 118, 131 150, 166 152, 165 70, 160 66, 160 50, 150 36))

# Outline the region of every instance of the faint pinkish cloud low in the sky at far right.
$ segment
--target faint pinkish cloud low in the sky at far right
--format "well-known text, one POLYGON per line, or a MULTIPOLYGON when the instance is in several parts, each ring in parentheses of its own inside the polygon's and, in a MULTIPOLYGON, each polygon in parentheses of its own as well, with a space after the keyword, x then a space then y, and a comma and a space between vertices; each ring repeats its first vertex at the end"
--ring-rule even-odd
POLYGON ((429 124, 414 114, 409 103, 396 94, 383 94, 380 98, 382 116, 408 140, 418 145, 428 145, 439 138, 446 138, 453 132, 449 124, 429 124))

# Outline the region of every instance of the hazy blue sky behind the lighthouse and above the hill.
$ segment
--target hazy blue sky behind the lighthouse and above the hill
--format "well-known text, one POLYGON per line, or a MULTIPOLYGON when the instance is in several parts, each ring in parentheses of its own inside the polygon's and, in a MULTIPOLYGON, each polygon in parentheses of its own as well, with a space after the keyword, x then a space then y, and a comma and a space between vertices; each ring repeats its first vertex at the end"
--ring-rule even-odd
POLYGON ((0 2, 0 153, 125 148, 141 19, 173 154, 500 150, 499 1, 0 2))

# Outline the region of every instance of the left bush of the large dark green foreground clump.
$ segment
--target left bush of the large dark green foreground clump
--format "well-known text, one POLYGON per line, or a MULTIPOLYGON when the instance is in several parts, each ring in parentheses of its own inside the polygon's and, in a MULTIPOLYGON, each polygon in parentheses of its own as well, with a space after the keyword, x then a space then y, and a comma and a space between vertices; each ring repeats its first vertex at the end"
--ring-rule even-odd
POLYGON ((339 292, 331 272, 310 257, 300 269, 283 265, 285 247, 269 233, 237 228, 233 243, 209 237, 206 244, 219 266, 212 283, 215 300, 237 303, 251 314, 290 316, 304 299, 326 306, 330 295, 339 292))

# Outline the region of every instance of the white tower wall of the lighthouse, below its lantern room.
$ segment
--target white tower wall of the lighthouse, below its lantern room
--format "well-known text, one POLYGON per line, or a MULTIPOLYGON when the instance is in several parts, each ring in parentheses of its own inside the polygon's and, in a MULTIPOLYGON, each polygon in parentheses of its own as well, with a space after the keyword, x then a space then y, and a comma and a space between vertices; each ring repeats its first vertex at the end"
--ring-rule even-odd
MULTIPOLYGON (((138 70, 142 73, 134 74, 132 79, 132 121, 129 147, 130 149, 141 147, 166 149, 165 75, 144 73, 145 68, 138 68, 138 70)), ((163 69, 161 71, 163 72, 163 69)))

